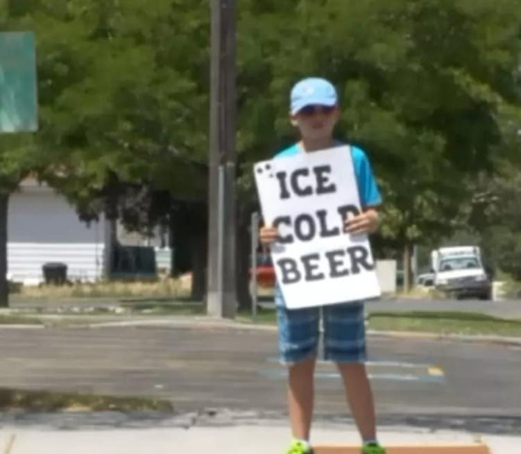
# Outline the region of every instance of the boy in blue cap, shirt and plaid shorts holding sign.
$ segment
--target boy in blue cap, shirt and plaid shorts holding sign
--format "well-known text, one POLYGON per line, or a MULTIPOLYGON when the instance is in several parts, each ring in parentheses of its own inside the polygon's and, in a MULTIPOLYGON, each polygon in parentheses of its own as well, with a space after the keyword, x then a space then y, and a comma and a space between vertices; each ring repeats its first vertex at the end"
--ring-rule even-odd
MULTIPOLYGON (((306 78, 291 90, 291 124, 300 131, 297 144, 276 158, 312 153, 340 145, 333 138, 339 120, 336 90, 323 78, 306 78)), ((377 229, 377 207, 382 199, 364 151, 350 147, 362 213, 345 220, 348 233, 372 233, 377 229)), ((277 241, 277 229, 260 229, 264 245, 277 241)), ((348 292, 349 289, 346 289, 348 292)), ((323 312, 325 358, 336 362, 343 378, 345 394, 364 442, 362 454, 385 454, 376 438, 373 392, 366 373, 364 303, 346 303, 287 310, 282 292, 275 291, 280 357, 289 367, 288 403, 293 440, 287 454, 312 454, 309 444, 314 405, 314 366, 318 343, 318 323, 323 312)))

